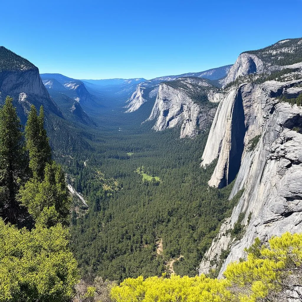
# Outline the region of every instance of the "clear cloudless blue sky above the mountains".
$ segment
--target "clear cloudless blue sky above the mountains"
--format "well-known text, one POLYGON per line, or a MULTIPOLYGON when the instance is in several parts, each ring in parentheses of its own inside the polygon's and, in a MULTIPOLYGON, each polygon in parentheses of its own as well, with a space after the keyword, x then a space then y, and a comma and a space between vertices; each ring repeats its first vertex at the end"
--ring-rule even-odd
POLYGON ((0 45, 77 79, 198 72, 302 36, 302 0, 3 1, 0 45))

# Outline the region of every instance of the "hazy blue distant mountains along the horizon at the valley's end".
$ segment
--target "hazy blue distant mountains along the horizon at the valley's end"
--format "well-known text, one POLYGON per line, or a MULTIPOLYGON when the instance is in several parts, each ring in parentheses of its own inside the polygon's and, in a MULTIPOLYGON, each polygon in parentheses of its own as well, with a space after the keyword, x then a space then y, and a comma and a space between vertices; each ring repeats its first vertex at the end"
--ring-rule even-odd
MULTIPOLYGON (((222 66, 201 72, 188 72, 176 76, 162 76, 151 80, 135 79, 72 79, 61 74, 41 74, 44 85, 49 92, 65 93, 70 98, 78 101, 87 110, 97 108, 97 105, 112 106, 128 100, 127 112, 137 110, 141 104, 149 99, 155 100, 159 83, 173 81, 180 77, 199 77, 210 80, 219 80, 226 76, 232 65, 222 66), (152 88, 153 92, 149 88, 152 88), (69 92, 66 91, 69 90, 69 92), (144 90, 144 92, 143 92, 144 90), (150 95, 146 95, 146 91, 150 95), (136 97, 136 94, 138 96, 136 97), (140 98, 144 94, 144 98, 140 98), (97 98, 97 100, 95 99, 97 98)), ((217 82, 218 83, 218 82, 217 82)), ((219 84, 218 84, 219 85, 219 84)))

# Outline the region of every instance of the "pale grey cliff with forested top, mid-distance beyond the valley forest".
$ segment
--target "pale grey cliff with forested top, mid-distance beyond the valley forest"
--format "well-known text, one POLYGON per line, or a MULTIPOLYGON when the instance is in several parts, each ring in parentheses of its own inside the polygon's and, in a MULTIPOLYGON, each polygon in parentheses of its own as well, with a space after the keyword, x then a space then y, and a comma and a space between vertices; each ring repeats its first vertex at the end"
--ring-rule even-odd
MULTIPOLYGON (((217 89, 216 89, 217 91, 217 89)), ((195 137, 198 130, 210 127, 220 94, 205 79, 179 78, 159 85, 155 104, 148 120, 156 119, 156 131, 181 125, 180 137, 195 137)))

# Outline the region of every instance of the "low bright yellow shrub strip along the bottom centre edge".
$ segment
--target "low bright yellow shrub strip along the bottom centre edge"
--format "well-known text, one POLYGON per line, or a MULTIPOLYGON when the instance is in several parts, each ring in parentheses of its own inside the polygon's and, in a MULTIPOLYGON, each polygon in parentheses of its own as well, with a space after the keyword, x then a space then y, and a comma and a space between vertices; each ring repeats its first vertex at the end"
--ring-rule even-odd
POLYGON ((118 302, 223 302, 230 301, 227 280, 206 278, 204 275, 190 278, 172 275, 171 278, 150 277, 143 280, 125 279, 111 290, 111 297, 118 302))

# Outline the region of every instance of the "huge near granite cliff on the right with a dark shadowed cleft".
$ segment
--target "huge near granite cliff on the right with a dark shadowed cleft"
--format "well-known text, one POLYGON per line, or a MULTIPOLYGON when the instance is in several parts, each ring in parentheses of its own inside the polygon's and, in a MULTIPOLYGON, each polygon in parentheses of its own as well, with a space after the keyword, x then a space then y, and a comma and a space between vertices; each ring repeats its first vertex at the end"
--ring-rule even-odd
POLYGON ((231 87, 219 104, 201 164, 218 157, 209 185, 223 187, 237 175, 230 199, 244 191, 205 254, 200 274, 218 269, 223 277, 226 266, 244 257, 256 237, 265 242, 286 231, 302 232, 302 108, 277 98, 301 93, 302 72, 298 78, 231 87), (241 213, 245 234, 232 239, 230 230, 241 213))

